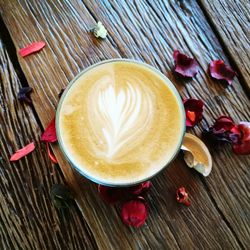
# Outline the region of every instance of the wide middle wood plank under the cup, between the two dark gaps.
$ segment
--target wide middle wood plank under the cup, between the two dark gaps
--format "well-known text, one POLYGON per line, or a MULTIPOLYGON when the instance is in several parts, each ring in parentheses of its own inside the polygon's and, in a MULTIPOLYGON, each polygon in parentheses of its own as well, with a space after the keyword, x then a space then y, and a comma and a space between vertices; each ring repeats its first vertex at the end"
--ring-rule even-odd
MULTIPOLYGON (((115 57, 147 62, 166 74, 183 98, 203 99, 204 119, 193 133, 200 134, 221 114, 230 114, 236 121, 249 120, 249 100, 238 79, 226 88, 207 74, 211 60, 228 59, 196 1, 36 2, 3 4, 2 0, 1 14, 17 49, 36 40, 47 43, 39 54, 19 58, 35 89, 32 100, 44 127, 54 115, 62 87, 86 66, 115 57), (96 20, 109 31, 104 41, 88 32, 96 20), (198 60, 200 71, 193 80, 172 73, 174 49, 198 60)), ((74 172, 57 147, 54 151, 100 249, 232 249, 249 245, 250 161, 233 155, 229 147, 211 149, 214 169, 207 179, 187 169, 181 155, 155 178, 148 197, 150 216, 140 229, 124 226, 119 205, 105 205, 96 186, 74 172), (175 190, 183 185, 192 199, 189 208, 175 201, 175 190)))

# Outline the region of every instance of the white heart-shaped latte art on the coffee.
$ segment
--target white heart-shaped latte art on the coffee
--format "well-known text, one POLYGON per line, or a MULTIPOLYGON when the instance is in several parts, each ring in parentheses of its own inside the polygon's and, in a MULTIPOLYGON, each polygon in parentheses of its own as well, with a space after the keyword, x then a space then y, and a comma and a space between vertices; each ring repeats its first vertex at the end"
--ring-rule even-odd
POLYGON ((117 86, 103 76, 88 97, 88 121, 95 137, 94 151, 106 160, 122 158, 143 142, 153 121, 153 93, 131 78, 117 86))

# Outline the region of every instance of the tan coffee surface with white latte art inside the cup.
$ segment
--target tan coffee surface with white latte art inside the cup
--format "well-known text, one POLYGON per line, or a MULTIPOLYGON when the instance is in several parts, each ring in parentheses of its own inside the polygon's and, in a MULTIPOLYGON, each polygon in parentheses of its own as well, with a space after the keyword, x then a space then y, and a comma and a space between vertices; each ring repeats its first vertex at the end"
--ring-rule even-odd
POLYGON ((77 167, 103 183, 143 180, 174 156, 183 113, 172 90, 152 69, 109 62, 71 86, 59 116, 61 142, 77 167))

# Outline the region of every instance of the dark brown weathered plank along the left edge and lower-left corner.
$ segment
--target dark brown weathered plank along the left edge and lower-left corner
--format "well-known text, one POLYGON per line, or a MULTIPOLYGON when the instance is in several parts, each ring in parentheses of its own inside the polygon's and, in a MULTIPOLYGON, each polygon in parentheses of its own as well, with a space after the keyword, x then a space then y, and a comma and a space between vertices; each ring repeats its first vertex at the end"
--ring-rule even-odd
POLYGON ((65 181, 39 142, 31 107, 17 100, 20 88, 0 38, 0 249, 95 248, 78 208, 63 214, 51 202, 51 186, 65 181), (31 141, 35 151, 10 163, 10 155, 31 141))

